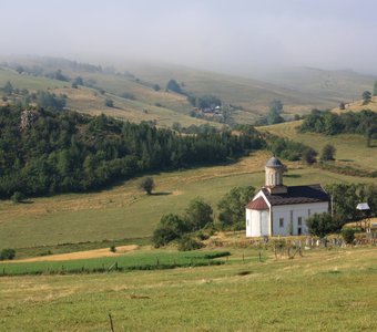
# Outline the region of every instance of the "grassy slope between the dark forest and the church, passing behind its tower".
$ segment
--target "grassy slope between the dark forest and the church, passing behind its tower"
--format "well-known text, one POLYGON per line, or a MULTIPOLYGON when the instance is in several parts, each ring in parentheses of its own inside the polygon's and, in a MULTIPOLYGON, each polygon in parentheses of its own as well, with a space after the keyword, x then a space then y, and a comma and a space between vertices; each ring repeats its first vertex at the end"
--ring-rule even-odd
MULTIPOLYGON (((151 236, 161 216, 181 214, 187 203, 203 197, 216 204, 234 186, 264 183, 264 165, 269 158, 259 152, 233 165, 202 167, 181 172, 154 174, 159 195, 147 196, 133 179, 109 190, 35 198, 29 204, 0 204, 0 243, 22 248, 64 242, 101 241, 151 236)), ((287 185, 308 183, 374 183, 287 163, 287 185)))

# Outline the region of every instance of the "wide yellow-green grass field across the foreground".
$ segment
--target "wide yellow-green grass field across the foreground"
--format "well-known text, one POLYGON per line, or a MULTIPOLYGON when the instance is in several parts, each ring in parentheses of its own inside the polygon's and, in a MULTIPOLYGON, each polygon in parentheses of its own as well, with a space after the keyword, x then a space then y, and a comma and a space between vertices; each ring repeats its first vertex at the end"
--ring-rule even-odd
POLYGON ((0 278, 2 331, 376 331, 376 248, 126 273, 0 278))

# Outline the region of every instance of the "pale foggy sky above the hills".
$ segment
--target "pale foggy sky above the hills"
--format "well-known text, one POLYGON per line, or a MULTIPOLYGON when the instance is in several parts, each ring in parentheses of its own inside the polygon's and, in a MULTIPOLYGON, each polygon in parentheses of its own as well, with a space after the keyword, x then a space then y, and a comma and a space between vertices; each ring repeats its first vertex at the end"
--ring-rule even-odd
POLYGON ((0 0, 0 53, 377 74, 375 0, 0 0), (3 3, 1 3, 3 2, 3 3))

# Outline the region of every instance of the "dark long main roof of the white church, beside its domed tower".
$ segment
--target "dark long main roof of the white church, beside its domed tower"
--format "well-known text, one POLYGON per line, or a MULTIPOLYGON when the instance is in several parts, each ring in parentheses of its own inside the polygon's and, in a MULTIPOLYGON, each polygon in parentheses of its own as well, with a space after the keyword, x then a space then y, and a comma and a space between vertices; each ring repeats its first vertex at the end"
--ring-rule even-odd
POLYGON ((262 188, 262 191, 272 206, 329 201, 329 196, 320 185, 291 186, 286 194, 269 194, 267 188, 262 188))

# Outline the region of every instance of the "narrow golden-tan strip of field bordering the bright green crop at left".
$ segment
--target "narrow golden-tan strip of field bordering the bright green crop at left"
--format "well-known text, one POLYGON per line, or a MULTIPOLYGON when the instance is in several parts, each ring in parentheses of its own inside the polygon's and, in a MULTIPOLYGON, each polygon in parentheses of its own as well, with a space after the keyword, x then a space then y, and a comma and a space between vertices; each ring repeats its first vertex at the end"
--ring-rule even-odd
POLYGON ((88 251, 77 251, 70 253, 59 253, 49 255, 41 257, 33 257, 27 259, 11 260, 7 262, 31 262, 31 261, 55 261, 55 260, 72 260, 72 259, 86 259, 86 258, 98 258, 98 257, 114 257, 120 256, 124 252, 135 250, 136 245, 121 246, 116 247, 116 252, 111 252, 109 248, 88 250, 88 251))

